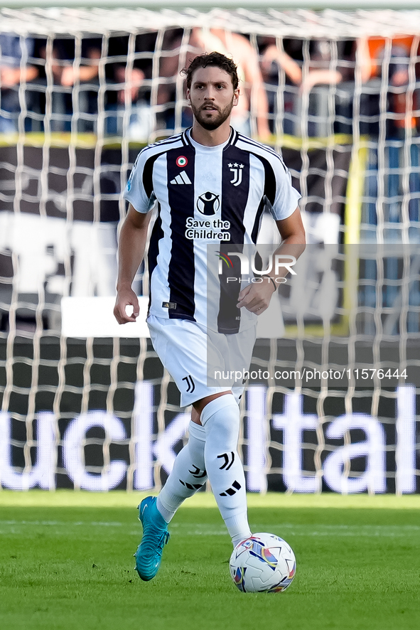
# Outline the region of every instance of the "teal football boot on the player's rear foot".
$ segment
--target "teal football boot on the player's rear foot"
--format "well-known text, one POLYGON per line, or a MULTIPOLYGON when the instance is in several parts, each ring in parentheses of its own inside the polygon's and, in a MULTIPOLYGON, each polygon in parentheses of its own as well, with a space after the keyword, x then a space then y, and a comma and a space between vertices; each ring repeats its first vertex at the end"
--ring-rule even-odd
POLYGON ((161 566, 162 550, 168 543, 168 523, 156 507, 156 496, 146 496, 139 505, 143 536, 134 557, 136 571, 144 582, 153 580, 161 566))

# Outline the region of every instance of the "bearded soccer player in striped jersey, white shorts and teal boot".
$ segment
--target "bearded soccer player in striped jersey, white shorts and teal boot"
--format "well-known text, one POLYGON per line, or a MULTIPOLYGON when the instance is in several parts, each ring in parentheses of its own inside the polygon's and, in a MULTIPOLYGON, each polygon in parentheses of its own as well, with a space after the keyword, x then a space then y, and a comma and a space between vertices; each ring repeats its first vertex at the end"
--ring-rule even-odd
POLYGON ((272 269, 265 282, 237 287, 235 308, 220 308, 213 325, 207 317, 208 306, 215 308, 215 301, 208 304, 207 245, 220 244, 222 249, 225 241, 232 243, 227 252, 235 245, 252 245, 266 207, 279 228, 282 253, 297 257, 305 242, 299 194, 284 162, 269 147, 230 127, 239 99, 235 63, 221 53, 203 54, 183 72, 193 127, 140 152, 124 191, 129 211, 119 236, 114 315, 125 324, 139 315, 131 283, 143 260, 151 209, 157 202, 149 243, 147 322, 156 353, 181 391, 181 406, 193 405, 188 444, 158 497, 144 498, 139 506, 143 536, 135 556, 142 580, 151 580, 158 571, 176 510, 207 479, 233 545, 251 535, 244 470, 237 454, 243 384, 209 387, 207 351, 211 347, 223 361, 225 348, 236 348, 248 367, 256 314, 269 306, 276 281, 287 272, 280 267, 275 274, 272 269), (133 312, 126 314, 130 305, 133 312))

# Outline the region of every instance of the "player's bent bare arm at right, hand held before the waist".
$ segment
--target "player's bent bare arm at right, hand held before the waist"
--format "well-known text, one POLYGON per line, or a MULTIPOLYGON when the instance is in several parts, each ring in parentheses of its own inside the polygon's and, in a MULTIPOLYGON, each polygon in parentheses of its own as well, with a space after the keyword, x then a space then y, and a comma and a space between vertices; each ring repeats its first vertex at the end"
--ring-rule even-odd
POLYGON ((281 245, 277 247, 273 254, 273 265, 271 272, 266 274, 267 281, 248 284, 239 293, 237 307, 244 306, 248 311, 261 315, 269 307, 272 294, 276 291, 281 280, 289 273, 291 264, 297 260, 303 250, 305 250, 305 229, 303 228, 301 211, 296 208, 287 218, 276 221, 277 228, 281 235, 281 245), (284 266, 279 266, 279 259, 276 255, 284 256, 284 266), (289 265, 288 265, 289 263, 289 265))

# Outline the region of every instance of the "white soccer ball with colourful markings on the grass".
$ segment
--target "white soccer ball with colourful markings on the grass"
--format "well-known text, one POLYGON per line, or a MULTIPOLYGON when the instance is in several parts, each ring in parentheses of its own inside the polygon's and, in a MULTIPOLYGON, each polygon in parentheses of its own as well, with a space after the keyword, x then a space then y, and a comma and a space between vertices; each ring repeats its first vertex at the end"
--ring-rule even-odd
POLYGON ((274 534, 252 534, 230 556, 230 575, 243 593, 279 593, 290 586, 296 558, 286 540, 274 534))

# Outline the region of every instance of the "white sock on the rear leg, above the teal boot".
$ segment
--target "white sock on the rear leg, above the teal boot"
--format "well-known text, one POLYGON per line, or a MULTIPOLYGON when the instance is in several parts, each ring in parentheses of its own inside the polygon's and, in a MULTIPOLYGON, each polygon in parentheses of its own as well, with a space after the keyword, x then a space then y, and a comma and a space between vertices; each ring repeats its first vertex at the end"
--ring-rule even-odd
POLYGON ((176 456, 171 474, 161 489, 156 507, 166 523, 185 498, 193 496, 207 481, 204 464, 205 429, 190 422, 188 444, 176 456))

